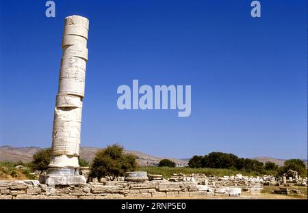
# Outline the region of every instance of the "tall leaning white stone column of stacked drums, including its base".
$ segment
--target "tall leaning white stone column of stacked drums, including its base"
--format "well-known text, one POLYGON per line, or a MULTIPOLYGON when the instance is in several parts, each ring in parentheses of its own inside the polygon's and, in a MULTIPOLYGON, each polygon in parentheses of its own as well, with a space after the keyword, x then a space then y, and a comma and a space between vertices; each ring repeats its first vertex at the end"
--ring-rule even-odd
POLYGON ((81 16, 65 18, 59 87, 53 119, 53 143, 47 175, 48 185, 85 184, 79 175, 81 111, 88 60, 89 20, 81 16))

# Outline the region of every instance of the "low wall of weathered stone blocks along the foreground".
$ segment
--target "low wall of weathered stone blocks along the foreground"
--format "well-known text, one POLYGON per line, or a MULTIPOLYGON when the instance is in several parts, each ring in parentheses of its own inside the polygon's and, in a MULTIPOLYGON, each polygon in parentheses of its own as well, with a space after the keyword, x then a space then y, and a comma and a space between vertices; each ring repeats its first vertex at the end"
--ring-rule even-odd
POLYGON ((152 199, 239 196, 239 188, 213 190, 197 182, 107 181, 83 186, 47 186, 36 180, 0 181, 0 199, 152 199), (236 193, 234 194, 234 191, 236 193))

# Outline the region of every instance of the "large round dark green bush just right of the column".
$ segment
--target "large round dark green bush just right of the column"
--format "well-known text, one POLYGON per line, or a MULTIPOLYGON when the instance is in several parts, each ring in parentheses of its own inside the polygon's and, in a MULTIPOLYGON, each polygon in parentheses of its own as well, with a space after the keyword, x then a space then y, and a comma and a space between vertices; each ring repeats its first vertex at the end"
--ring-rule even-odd
POLYGON ((136 156, 123 154, 123 150, 123 146, 115 144, 97 152, 90 167, 89 177, 97 177, 101 182, 102 177, 114 180, 127 171, 134 171, 137 167, 136 156))

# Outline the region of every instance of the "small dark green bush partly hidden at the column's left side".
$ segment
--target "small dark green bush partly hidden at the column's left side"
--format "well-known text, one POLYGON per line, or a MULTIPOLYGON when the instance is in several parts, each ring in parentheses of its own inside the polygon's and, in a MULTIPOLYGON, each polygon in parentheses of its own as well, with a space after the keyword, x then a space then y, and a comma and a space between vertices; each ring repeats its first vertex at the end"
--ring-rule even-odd
POLYGON ((50 162, 51 148, 40 150, 33 155, 30 163, 32 171, 46 171, 50 162))

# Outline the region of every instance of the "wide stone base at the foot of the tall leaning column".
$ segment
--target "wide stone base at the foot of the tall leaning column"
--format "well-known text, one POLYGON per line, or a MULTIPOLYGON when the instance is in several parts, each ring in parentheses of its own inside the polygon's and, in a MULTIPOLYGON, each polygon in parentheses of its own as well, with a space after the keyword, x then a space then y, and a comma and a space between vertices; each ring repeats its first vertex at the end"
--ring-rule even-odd
POLYGON ((79 169, 49 168, 47 175, 40 175, 40 184, 55 185, 84 185, 86 177, 79 175, 79 169))

